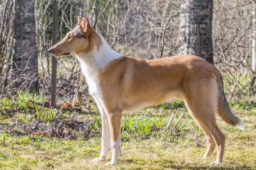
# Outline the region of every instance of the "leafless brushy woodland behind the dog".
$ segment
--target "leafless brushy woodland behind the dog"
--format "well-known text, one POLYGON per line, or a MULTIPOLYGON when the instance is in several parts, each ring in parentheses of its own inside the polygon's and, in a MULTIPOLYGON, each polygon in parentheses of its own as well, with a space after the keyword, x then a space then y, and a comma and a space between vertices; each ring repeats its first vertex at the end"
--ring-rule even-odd
MULTIPOLYGON (((74 16, 88 16, 94 29, 122 54, 146 59, 180 54, 181 3, 184 1, 60 0, 58 39, 76 25, 74 16)), ((214 65, 224 76, 228 98, 250 101, 255 96, 256 78, 255 2, 216 0, 212 9, 214 65)), ((33 86, 46 96, 50 94, 51 55, 47 49, 52 46, 52 27, 53 1, 0 0, 0 96, 33 86), (28 10, 17 13, 23 4, 28 10), (18 24, 25 28, 17 30, 18 24), (33 34, 33 41, 23 39, 33 34), (21 41, 15 40, 18 36, 21 41), (24 50, 18 53, 17 48, 24 50), (27 48, 35 50, 26 54, 27 48), (25 54, 27 58, 17 59, 25 54), (29 60, 34 61, 29 64, 29 60), (18 62, 16 66, 14 61, 18 62), (20 65, 36 67, 38 72, 22 70, 20 65)), ((85 102, 87 95, 76 58, 58 58, 57 99, 85 102)))

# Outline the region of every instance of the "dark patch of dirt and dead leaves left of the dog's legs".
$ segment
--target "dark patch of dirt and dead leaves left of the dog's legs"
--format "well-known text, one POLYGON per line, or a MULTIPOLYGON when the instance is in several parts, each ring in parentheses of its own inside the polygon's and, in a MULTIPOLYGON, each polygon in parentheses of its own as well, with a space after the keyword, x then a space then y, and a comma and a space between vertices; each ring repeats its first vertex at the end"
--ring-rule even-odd
POLYGON ((40 119, 32 122, 8 122, 0 123, 0 133, 9 133, 10 135, 29 135, 58 137, 63 139, 77 139, 78 137, 88 139, 92 136, 98 136, 99 131, 94 129, 95 121, 89 119, 86 122, 70 116, 70 118, 61 118, 57 116, 53 122, 46 122, 40 119), (93 133, 92 133, 93 132, 93 133))

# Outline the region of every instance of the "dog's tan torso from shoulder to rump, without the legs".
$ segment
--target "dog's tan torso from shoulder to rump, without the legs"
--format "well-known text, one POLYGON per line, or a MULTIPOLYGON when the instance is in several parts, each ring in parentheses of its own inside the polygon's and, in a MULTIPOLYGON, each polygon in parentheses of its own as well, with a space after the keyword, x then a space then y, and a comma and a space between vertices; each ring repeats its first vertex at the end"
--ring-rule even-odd
MULTIPOLYGON (((190 99, 198 94, 197 91, 192 93, 198 89, 206 88, 203 93, 206 95, 207 80, 216 82, 212 65, 197 56, 188 55, 152 61, 124 56, 110 63, 100 72, 99 78, 108 109, 115 108, 118 103, 119 107, 128 111, 139 103, 157 105, 168 99, 190 99), (195 65, 198 65, 197 68, 195 65), (190 91, 191 94, 186 95, 190 91), (109 97, 116 101, 108 101, 109 97)), ((218 95, 217 85, 215 89, 218 95)))

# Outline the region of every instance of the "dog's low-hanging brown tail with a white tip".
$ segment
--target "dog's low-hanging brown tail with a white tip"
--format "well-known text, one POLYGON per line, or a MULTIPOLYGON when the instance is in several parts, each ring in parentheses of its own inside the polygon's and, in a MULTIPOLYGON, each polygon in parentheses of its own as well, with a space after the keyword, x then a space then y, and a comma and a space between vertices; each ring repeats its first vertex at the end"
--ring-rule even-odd
POLYGON ((235 116, 229 107, 229 104, 227 103, 227 99, 224 94, 223 90, 223 78, 220 74, 218 77, 218 114, 221 116, 221 118, 227 122, 228 124, 231 124, 233 126, 237 126, 239 129, 244 131, 244 121, 237 116, 235 116))

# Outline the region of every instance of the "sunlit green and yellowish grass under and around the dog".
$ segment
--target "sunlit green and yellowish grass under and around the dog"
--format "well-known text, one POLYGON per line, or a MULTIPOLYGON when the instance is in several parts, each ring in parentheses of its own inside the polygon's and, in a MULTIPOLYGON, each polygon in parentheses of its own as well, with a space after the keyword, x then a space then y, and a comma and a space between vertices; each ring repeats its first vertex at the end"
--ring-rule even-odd
MULTIPOLYGON (((203 131, 186 112, 184 103, 174 101, 124 115, 122 154, 117 165, 104 167, 104 163, 91 163, 100 154, 101 122, 95 107, 73 109, 74 105, 64 104, 51 109, 37 104, 45 101, 42 96, 25 93, 16 99, 1 99, 0 169, 208 169, 216 156, 215 151, 212 157, 201 158, 206 149, 203 131), (177 126, 167 128, 170 116, 174 116, 173 126, 182 112, 184 117, 177 126), (31 124, 38 119, 52 128, 58 115, 62 116, 62 122, 81 120, 75 139, 5 132, 7 126, 15 128, 14 122, 31 124), (86 136, 82 125, 89 127, 86 136)), ((210 169, 256 169, 255 103, 241 101, 231 107, 244 120, 246 131, 218 118, 227 137, 224 162, 210 169)), ((111 153, 107 160, 110 158, 111 153)))

